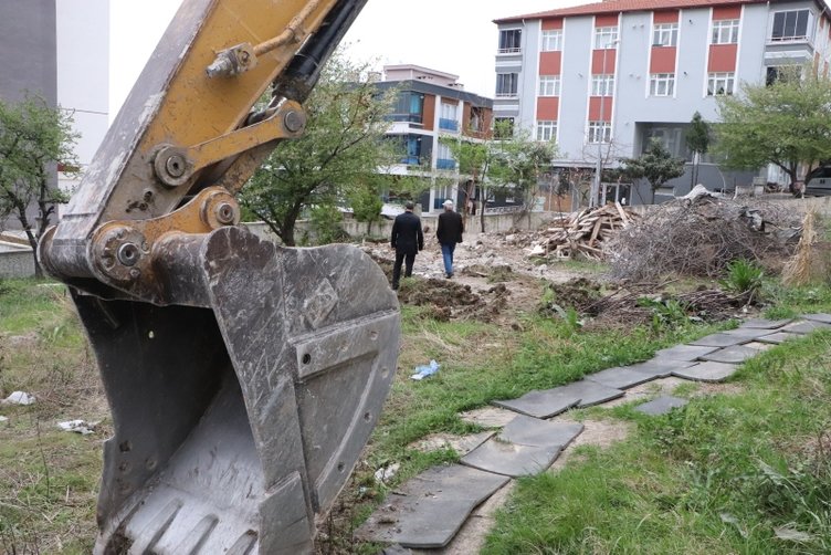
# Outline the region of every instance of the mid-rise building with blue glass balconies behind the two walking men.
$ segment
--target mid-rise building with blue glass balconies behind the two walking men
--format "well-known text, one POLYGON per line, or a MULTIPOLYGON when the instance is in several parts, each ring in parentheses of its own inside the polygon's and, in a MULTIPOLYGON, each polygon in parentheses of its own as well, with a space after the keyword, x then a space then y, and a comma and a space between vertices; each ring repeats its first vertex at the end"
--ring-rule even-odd
MULTIPOLYGON (((493 101, 465 92, 459 76, 419 65, 386 65, 380 91, 398 88, 387 135, 398 140, 404 155, 391 168, 395 175, 432 180, 421 199, 423 211, 436 211, 446 199, 464 202, 459 191, 456 161, 441 137, 482 140, 490 134, 493 101), (436 176, 449 176, 436 185, 436 176)), ((461 205, 464 206, 464 205, 461 205)))

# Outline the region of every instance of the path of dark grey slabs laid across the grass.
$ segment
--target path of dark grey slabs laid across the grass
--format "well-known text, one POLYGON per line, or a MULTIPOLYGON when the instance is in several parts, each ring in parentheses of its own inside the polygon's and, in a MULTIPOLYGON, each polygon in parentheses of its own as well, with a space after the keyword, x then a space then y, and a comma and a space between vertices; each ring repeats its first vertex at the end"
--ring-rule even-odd
MULTIPOLYGON (((461 464, 434 467, 390 492, 356 536, 389 544, 383 553, 390 555, 444 548, 477 506, 504 502, 509 491, 505 486, 513 478, 546 471, 583 431, 582 423, 550 418, 571 408, 625 401, 628 389, 660 378, 723 381, 759 352, 820 328, 831 328, 831 314, 806 314, 793 321, 748 320, 736 329, 659 350, 645 363, 608 368, 574 384, 494 401, 509 416, 497 416, 491 422, 499 431, 466 438, 455 446, 461 464)), ((686 402, 662 395, 635 410, 663 415, 686 402)))

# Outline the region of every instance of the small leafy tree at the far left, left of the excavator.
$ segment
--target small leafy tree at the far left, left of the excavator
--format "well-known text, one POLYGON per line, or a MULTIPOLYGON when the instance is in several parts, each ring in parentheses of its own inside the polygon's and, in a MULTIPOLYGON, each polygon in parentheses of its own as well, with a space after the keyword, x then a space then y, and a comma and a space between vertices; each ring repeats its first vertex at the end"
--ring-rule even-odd
POLYGON ((0 101, 0 216, 13 216, 20 222, 33 250, 38 278, 43 276, 38 241, 46 231, 55 206, 67 199, 52 178, 57 165, 75 167, 72 147, 76 138, 72 116, 51 108, 42 98, 27 97, 8 104, 0 101), (29 212, 33 208, 34 222, 29 212))

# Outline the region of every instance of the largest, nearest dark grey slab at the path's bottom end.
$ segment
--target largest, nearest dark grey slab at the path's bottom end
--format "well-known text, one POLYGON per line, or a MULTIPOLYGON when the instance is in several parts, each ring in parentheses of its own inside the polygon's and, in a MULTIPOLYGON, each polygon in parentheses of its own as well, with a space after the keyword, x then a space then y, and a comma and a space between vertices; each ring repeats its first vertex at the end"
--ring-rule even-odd
POLYGON ((508 480, 461 464, 434 467, 390 493, 355 535, 417 549, 443 547, 473 509, 508 480))

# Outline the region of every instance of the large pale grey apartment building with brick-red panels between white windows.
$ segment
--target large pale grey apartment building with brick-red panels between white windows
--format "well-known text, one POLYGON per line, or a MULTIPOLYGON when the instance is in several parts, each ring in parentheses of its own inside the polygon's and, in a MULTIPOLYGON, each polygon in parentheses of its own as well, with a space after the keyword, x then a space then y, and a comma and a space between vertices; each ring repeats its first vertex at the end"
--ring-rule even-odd
MULTIPOLYGON (((691 160, 684 132, 695 112, 717 122, 719 95, 775 80, 783 66, 827 74, 831 54, 819 0, 610 0, 495 23, 494 117, 556 139, 560 167, 613 166, 652 137, 691 160)), ((704 164, 699 181, 730 189, 755 175, 704 164)), ((662 192, 683 195, 690 179, 662 192)), ((638 189, 622 195, 649 202, 638 189)))

